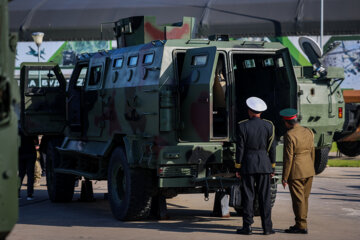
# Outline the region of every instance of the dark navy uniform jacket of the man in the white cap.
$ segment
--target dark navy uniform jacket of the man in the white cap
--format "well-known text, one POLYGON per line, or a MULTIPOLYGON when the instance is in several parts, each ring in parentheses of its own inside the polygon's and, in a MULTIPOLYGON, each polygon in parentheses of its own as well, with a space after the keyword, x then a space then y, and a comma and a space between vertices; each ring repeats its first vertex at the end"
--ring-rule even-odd
POLYGON ((275 127, 253 117, 238 124, 235 168, 242 174, 273 173, 276 162, 275 127))

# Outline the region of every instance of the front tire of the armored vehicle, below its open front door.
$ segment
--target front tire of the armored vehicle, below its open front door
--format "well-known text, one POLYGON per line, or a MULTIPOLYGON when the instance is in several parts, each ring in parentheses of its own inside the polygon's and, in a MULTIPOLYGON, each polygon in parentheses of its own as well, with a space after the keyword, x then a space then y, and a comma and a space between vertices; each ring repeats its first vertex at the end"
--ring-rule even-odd
POLYGON ((56 147, 61 145, 62 140, 62 138, 52 139, 47 146, 46 185, 52 202, 71 202, 74 196, 75 176, 54 171, 60 161, 56 147))

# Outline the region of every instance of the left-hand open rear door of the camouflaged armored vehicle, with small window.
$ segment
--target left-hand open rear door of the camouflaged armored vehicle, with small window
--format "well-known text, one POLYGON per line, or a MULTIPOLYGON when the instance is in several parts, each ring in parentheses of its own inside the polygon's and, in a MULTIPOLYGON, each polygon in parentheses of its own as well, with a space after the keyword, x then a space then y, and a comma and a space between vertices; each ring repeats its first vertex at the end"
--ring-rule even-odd
POLYGON ((180 79, 180 139, 209 141, 212 131, 212 86, 216 47, 186 51, 180 79))

